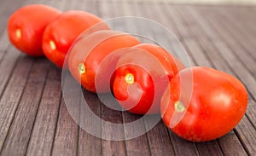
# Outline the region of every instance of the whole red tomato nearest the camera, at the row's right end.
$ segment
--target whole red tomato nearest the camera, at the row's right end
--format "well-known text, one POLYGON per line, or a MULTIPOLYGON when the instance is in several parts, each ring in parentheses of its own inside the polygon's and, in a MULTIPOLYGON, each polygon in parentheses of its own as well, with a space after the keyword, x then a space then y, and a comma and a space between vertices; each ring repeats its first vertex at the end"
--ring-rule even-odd
POLYGON ((239 123, 247 109, 247 90, 243 84, 212 68, 184 69, 172 78, 170 86, 161 101, 162 119, 177 136, 192 142, 206 142, 224 136, 239 123), (180 80, 188 79, 191 73, 192 84, 180 80), (189 105, 183 103, 189 95, 180 96, 180 91, 186 91, 181 90, 180 83, 192 85, 189 105), (179 122, 172 125, 177 120, 179 122))

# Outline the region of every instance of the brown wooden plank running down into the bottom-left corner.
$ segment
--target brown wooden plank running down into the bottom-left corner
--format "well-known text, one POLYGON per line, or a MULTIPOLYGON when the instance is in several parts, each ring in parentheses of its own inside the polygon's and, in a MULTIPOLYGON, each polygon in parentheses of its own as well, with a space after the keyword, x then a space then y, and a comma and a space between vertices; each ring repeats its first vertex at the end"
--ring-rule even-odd
POLYGON ((26 87, 23 91, 15 118, 5 139, 3 155, 24 155, 38 111, 49 62, 44 58, 34 59, 26 87))

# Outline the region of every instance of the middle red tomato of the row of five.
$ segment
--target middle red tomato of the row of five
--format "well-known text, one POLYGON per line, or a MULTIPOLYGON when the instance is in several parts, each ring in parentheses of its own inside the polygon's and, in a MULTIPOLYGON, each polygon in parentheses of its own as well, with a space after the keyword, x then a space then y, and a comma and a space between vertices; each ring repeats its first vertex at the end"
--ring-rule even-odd
POLYGON ((138 43, 140 42, 137 38, 125 32, 104 30, 91 33, 73 44, 68 54, 69 70, 86 90, 97 93, 109 92, 109 84, 112 84, 109 82, 112 80, 108 79, 111 74, 109 71, 116 66, 118 57, 111 58, 112 61, 99 67, 103 59, 116 49, 131 47, 138 43), (100 86, 97 90, 96 83, 100 86))

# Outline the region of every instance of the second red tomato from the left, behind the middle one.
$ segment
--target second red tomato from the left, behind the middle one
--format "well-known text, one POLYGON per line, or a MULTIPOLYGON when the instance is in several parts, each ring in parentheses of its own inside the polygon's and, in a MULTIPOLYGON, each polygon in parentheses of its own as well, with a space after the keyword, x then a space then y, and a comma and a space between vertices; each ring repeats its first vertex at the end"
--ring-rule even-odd
MULTIPOLYGON (((102 20, 94 14, 79 10, 70 10, 61 14, 56 20, 49 23, 44 31, 43 50, 44 55, 62 67, 68 49, 79 35, 102 20)), ((107 24, 102 24, 101 29, 109 29, 107 24)), ((96 30, 95 30, 96 31, 96 30)))

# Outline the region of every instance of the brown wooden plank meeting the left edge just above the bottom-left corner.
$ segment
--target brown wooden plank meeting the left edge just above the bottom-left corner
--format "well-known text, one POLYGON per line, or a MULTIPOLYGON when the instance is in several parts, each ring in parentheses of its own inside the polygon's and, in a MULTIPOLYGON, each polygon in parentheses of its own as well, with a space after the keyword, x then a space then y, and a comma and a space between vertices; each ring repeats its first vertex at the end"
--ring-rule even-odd
MULTIPOLYGON (((11 49, 15 54, 15 49, 11 49)), ((17 54, 16 54, 17 55, 17 54)), ((12 63, 12 62, 11 62, 12 63)), ((15 117, 16 109, 20 102, 20 97, 26 86, 33 60, 30 57, 22 55, 17 62, 12 76, 3 92, 0 100, 0 148, 3 148, 3 142, 8 135, 9 127, 15 117)))

